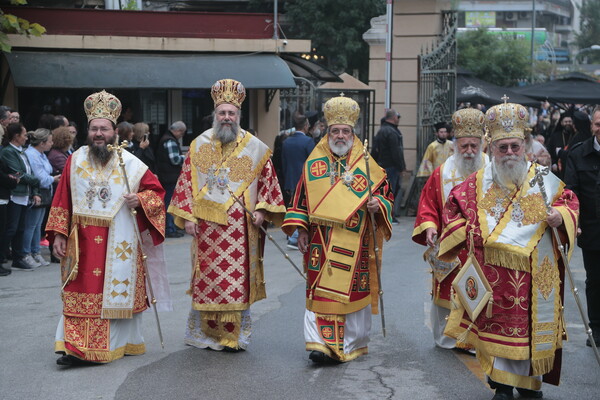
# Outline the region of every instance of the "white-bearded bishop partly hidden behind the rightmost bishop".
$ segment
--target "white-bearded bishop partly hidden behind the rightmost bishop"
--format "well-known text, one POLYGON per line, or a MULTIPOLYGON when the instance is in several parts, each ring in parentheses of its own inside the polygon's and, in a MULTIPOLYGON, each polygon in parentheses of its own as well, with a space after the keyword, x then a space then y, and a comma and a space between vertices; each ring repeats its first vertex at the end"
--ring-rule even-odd
POLYGON ((474 108, 458 110, 452 115, 456 137, 454 154, 436 168, 425 183, 412 235, 416 243, 429 246, 425 259, 432 268, 431 328, 435 344, 446 349, 456 347, 456 339, 444 336, 444 328, 450 313, 452 281, 459 266, 466 260, 467 253, 463 251, 452 262, 439 260, 436 257, 439 247, 437 236, 442 231, 442 209, 450 190, 488 162, 488 156, 482 153, 481 146, 483 120, 483 113, 474 108))

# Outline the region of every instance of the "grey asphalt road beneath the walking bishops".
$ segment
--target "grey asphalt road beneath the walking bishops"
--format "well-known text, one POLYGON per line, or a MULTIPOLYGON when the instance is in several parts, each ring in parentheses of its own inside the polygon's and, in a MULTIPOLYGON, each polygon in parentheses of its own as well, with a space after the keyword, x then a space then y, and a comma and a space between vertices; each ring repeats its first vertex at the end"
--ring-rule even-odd
MULTIPOLYGON (((303 340, 304 284, 267 243, 268 298, 252 307, 248 351, 223 353, 183 344, 190 299, 190 238, 165 243, 173 312, 159 313, 161 350, 153 313, 144 315, 147 352, 111 364, 65 369, 56 365, 54 333, 61 312, 57 264, 0 277, 0 398, 2 399, 491 399, 475 358, 433 345, 429 329, 430 275, 424 248, 410 240, 413 218, 394 227, 384 247, 387 337, 373 316, 369 354, 333 366, 308 360, 303 340)), ((285 244, 275 231, 278 243, 285 244)), ((300 253, 290 251, 298 265, 300 253)), ((577 286, 585 272, 579 249, 571 261, 577 286)), ((570 292, 569 341, 561 385, 544 385, 546 399, 599 399, 600 367, 570 292)), ((518 396, 517 396, 518 397, 518 396)))

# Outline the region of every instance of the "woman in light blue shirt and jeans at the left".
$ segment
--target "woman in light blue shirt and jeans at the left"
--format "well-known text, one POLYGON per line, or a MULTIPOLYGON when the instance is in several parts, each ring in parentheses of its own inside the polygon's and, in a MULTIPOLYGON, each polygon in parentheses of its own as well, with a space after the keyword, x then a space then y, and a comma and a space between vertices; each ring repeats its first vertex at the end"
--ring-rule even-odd
POLYGON ((57 183, 60 175, 52 176, 52 165, 46 157, 46 152, 52 148, 52 133, 48 129, 40 128, 29 134, 29 147, 25 154, 31 164, 34 175, 39 179, 39 192, 42 201, 35 204, 27 211, 23 230, 24 260, 30 265, 46 266, 50 263, 40 254, 40 240, 42 238, 42 221, 46 210, 52 203, 53 183, 57 183))

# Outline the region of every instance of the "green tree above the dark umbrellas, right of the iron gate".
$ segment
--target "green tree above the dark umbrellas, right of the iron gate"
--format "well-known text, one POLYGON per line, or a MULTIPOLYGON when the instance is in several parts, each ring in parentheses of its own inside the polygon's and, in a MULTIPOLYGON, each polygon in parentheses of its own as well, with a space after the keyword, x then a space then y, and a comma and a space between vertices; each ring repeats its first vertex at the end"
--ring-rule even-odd
POLYGON ((490 34, 481 28, 458 36, 457 63, 479 79, 499 86, 515 86, 531 74, 529 42, 490 34))

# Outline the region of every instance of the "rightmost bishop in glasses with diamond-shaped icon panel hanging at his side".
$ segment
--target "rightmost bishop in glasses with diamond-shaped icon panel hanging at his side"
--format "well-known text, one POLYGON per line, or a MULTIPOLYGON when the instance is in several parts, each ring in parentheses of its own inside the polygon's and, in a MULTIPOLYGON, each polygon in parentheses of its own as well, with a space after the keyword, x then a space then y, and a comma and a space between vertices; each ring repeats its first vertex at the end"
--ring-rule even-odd
MULTIPOLYGON (((532 183, 535 164, 525 157, 528 120, 519 104, 487 111, 492 161, 451 191, 443 211, 439 258, 453 260, 466 246, 492 290, 475 320, 463 308, 453 310, 445 333, 475 346, 495 399, 513 398, 514 388, 521 397, 539 398, 542 381, 558 385, 565 335, 565 266, 551 228, 558 229, 570 256, 579 202, 548 174, 547 212, 539 185, 532 183)), ((461 302, 483 290, 469 289, 461 302)))

